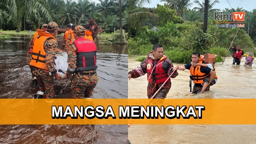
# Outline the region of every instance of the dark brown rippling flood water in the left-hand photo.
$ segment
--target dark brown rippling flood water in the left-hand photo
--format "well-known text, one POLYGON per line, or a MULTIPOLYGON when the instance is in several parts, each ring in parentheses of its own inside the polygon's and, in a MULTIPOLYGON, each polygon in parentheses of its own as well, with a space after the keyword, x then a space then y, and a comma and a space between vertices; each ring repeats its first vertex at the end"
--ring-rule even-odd
MULTIPOLYGON (((58 36, 58 48, 62 36, 58 36)), ((0 39, 0 98, 32 98, 37 88, 26 64, 30 36, 14 35, 0 39)), ((128 97, 127 46, 97 46, 97 74, 100 78, 94 98, 128 97)), ((70 80, 54 82, 55 98, 72 98, 70 80)), ((87 144, 125 143, 127 125, 0 125, 0 143, 4 144, 87 144)))

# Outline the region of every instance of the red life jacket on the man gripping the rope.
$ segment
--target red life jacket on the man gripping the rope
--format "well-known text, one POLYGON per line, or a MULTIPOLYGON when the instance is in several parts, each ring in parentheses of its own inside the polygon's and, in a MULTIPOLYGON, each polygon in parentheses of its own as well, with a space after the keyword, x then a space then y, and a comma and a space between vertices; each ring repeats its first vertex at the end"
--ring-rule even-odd
MULTIPOLYGON (((166 58, 167 58, 166 56, 163 56, 160 60, 158 60, 156 65, 153 65, 152 59, 148 60, 148 65, 147 65, 148 82, 161 84, 167 80, 168 72, 164 71, 164 69, 162 68, 163 62, 166 58)), ((171 79, 169 78, 167 82, 170 82, 170 81, 171 79)))

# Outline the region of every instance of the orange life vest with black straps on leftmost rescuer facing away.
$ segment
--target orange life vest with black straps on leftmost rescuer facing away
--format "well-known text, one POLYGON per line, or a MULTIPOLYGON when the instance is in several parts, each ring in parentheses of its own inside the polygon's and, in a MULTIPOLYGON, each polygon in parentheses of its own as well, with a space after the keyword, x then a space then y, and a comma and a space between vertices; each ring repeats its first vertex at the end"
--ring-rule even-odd
POLYGON ((34 41, 34 48, 32 52, 32 59, 30 61, 30 66, 48 70, 45 63, 46 52, 44 51, 44 44, 46 40, 50 38, 53 38, 54 40, 56 40, 56 38, 49 32, 42 31, 42 32, 38 32, 38 34, 39 36, 36 37, 34 41))

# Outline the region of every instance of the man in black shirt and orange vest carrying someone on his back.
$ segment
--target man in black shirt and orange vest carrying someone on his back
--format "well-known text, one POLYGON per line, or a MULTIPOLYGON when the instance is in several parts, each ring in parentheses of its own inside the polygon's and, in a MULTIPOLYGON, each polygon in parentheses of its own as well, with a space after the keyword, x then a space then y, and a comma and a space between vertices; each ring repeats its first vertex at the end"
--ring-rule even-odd
POLYGON ((180 66, 180 70, 190 70, 190 92, 192 88, 192 80, 194 82, 192 94, 202 94, 204 91, 210 90, 210 84, 214 80, 215 73, 208 67, 197 65, 196 63, 203 63, 204 56, 198 52, 192 53, 192 63, 180 66), (210 78, 209 77, 210 74, 210 78), (206 89, 203 88, 204 82, 208 83, 206 89))

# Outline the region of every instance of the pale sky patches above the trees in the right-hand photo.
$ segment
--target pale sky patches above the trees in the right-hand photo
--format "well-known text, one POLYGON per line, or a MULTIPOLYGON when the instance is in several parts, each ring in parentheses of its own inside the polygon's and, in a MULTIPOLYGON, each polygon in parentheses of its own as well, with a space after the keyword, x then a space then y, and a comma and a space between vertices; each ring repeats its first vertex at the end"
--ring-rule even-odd
MULTIPOLYGON (((194 0, 190 0, 190 2, 193 2, 194 0)), ((212 3, 214 0, 210 0, 210 3, 212 3)), ((204 0, 199 0, 199 2, 204 2, 204 0)), ((145 7, 148 8, 156 8, 156 4, 164 4, 164 2, 160 2, 160 0, 151 0, 150 4, 146 4, 145 7)), ((219 0, 219 3, 215 4, 213 8, 218 8, 220 10, 223 10, 225 8, 234 8, 242 7, 245 10, 252 11, 253 9, 256 9, 256 1, 255 0, 219 0), (228 4, 229 2, 229 4, 228 4)), ((193 5, 190 9, 198 7, 197 5, 193 5)))

